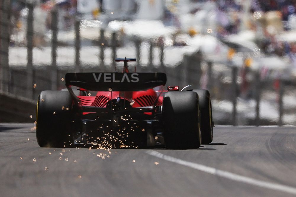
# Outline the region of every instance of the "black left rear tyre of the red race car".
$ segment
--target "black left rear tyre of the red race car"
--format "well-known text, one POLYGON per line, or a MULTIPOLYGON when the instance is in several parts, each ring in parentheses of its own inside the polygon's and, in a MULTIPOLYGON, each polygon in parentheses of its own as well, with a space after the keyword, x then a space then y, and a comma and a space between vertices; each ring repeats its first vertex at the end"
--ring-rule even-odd
POLYGON ((41 147, 64 147, 68 142, 72 98, 67 91, 42 91, 37 101, 36 138, 41 147))

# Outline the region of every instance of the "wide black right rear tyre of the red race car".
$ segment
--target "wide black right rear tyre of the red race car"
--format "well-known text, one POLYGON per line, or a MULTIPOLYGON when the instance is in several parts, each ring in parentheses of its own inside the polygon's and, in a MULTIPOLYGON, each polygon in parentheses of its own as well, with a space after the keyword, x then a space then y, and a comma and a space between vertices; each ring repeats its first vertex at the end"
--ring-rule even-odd
POLYGON ((163 98, 163 119, 168 149, 200 147, 200 109, 196 92, 167 92, 163 98))

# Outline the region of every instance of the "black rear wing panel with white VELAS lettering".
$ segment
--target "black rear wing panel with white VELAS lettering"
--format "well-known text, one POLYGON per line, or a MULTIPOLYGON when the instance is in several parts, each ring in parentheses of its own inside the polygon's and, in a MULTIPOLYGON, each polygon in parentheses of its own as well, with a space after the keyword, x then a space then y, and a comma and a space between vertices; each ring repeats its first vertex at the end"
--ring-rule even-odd
POLYGON ((66 86, 91 91, 140 91, 166 84, 165 73, 67 73, 66 86))

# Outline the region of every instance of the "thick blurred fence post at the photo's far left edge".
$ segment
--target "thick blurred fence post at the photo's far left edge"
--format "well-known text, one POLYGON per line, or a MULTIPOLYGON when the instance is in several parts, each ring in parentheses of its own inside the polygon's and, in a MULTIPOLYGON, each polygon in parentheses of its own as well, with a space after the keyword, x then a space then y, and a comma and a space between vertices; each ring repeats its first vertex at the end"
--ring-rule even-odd
POLYGON ((0 6, 0 89, 8 92, 10 0, 2 0, 0 6))

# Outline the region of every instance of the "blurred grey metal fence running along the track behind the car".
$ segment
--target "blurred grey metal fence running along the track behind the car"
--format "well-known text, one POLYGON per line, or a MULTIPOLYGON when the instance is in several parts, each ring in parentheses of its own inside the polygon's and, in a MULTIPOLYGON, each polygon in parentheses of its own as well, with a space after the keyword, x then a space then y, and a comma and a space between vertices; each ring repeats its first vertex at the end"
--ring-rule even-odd
MULTIPOLYGON (((82 38, 81 28, 84 23, 76 17, 73 20, 75 35, 70 35, 70 32, 65 31, 64 37, 68 36, 69 39, 59 40, 58 35, 61 31, 58 21, 59 11, 57 7, 54 7, 50 12, 50 25, 48 25, 50 40, 45 41, 43 35, 34 31, 36 28, 33 23, 36 20, 33 14, 34 5, 25 3, 26 13, 22 21, 26 21, 26 24, 23 29, 19 27, 20 32, 25 32, 25 42, 16 43, 14 40, 12 45, 12 34, 16 27, 11 22, 9 2, 9 0, 1 2, 0 13, 0 84, 2 92, 36 100, 43 90, 64 88, 63 78, 67 72, 114 70, 116 66, 114 60, 119 55, 120 47, 124 45, 124 40, 118 38, 120 32, 106 35, 104 28, 97 27, 95 28, 96 38, 82 38), (40 43, 44 45, 41 49, 38 47, 40 43), (96 55, 88 53, 89 48, 92 51, 97 50, 96 55), (36 50, 41 54, 39 59, 33 56, 33 54, 37 54, 36 50), (50 53, 47 53, 46 50, 50 50, 50 53), (106 51, 111 55, 106 57, 106 51), (91 56, 91 60, 88 62, 88 59, 84 58, 86 61, 82 61, 82 56, 91 56), (94 56, 96 58, 93 58, 94 56), (9 60, 12 61, 9 62, 9 60), (59 62, 62 63, 59 64, 59 62)), ((290 116, 293 119, 292 109, 296 108, 294 105, 285 105, 283 99, 285 94, 289 97, 292 94, 291 91, 296 89, 292 82, 275 77, 262 77, 263 74, 260 71, 253 71, 246 66, 238 68, 227 63, 211 62, 206 60, 200 51, 184 55, 178 66, 165 65, 164 56, 168 54, 165 54, 166 47, 159 40, 161 38, 143 40, 137 37, 131 40, 135 51, 133 57, 137 58, 137 63, 134 65, 137 67, 137 71, 165 72, 168 85, 184 87, 187 84, 192 84, 194 89, 209 89, 213 100, 216 124, 259 126, 296 123, 293 120, 288 122, 283 120, 285 113, 292 114, 290 116), (145 57, 148 60, 147 64, 141 64, 141 58, 143 58, 141 45, 143 43, 148 43, 148 53, 145 57), (155 49, 157 53, 155 53, 155 49), (157 58, 157 63, 154 62, 155 58, 157 58), (271 110, 270 113, 274 117, 265 117, 263 111, 266 108, 271 110)), ((130 51, 126 51, 126 53, 131 54, 130 51)))

